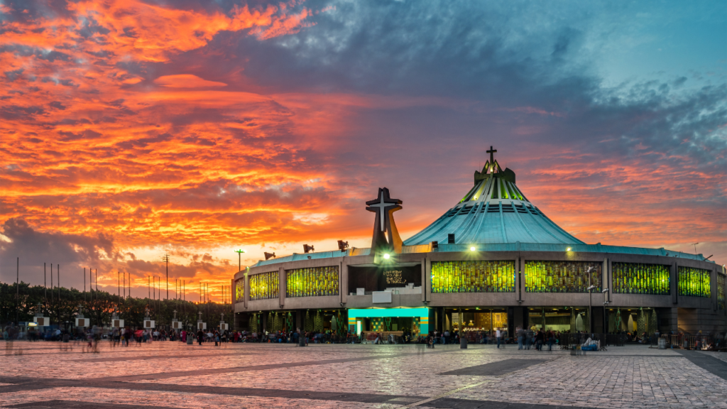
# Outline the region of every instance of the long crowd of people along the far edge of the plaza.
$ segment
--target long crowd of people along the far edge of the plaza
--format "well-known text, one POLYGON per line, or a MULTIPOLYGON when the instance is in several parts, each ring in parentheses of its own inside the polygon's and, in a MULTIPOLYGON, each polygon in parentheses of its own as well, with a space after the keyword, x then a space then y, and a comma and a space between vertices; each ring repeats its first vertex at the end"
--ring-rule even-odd
MULTIPOLYGON (((492 331, 488 330, 432 330, 427 335, 419 335, 410 333, 407 330, 401 331, 401 335, 393 335, 392 333, 369 332, 369 333, 351 333, 345 335, 332 330, 324 331, 302 331, 302 330, 277 330, 277 331, 247 331, 247 330, 164 330, 164 329, 132 329, 126 328, 107 328, 107 327, 86 327, 76 328, 74 331, 64 330, 61 328, 53 328, 40 330, 36 328, 28 328, 23 332, 19 327, 8 325, 4 327, 2 339, 28 341, 83 341, 85 348, 89 352, 97 352, 97 343, 103 339, 113 341, 112 345, 129 346, 136 344, 140 346, 145 343, 155 341, 181 341, 188 342, 188 338, 192 338, 189 343, 196 342, 199 345, 205 343, 214 343, 220 346, 225 343, 269 343, 269 344, 298 344, 303 338, 304 344, 427 344, 427 346, 435 346, 437 344, 459 344, 461 337, 467 338, 467 341, 475 344, 493 344, 499 348, 505 348, 508 344, 517 344, 518 349, 536 349, 542 351, 547 346, 548 350, 556 347, 572 344, 571 338, 579 338, 580 341, 595 335, 587 334, 585 331, 577 333, 561 333, 558 330, 542 330, 539 327, 516 327, 513 334, 508 333, 505 327, 496 327, 492 331), (567 338, 567 339, 566 339, 567 338), (581 339, 582 338, 582 339, 581 339)), ((603 334, 599 334, 603 335, 603 334)), ((608 336, 616 335, 619 340, 624 343, 638 344, 656 344, 656 341, 662 336, 656 333, 636 334, 622 331, 621 333, 608 334, 608 336)), ((685 333, 670 333, 665 335, 669 339, 669 344, 677 348, 694 348, 718 350, 725 348, 725 338, 721 334, 703 335, 699 331, 696 335, 688 335, 685 333), (690 338, 691 337, 691 338, 690 338), (694 338, 694 339, 692 339, 694 338)), ((606 341, 608 343, 609 341, 606 341)), ((581 343, 582 344, 582 343, 581 343)))

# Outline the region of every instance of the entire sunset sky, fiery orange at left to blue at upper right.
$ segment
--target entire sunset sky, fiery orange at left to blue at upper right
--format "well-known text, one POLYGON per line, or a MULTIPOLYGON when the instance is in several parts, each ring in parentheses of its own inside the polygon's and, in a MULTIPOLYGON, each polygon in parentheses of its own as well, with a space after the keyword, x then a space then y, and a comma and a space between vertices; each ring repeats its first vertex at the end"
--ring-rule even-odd
POLYGON ((588 243, 727 263, 724 1, 0 0, 0 281, 214 300, 263 251, 410 237, 490 145, 588 243))

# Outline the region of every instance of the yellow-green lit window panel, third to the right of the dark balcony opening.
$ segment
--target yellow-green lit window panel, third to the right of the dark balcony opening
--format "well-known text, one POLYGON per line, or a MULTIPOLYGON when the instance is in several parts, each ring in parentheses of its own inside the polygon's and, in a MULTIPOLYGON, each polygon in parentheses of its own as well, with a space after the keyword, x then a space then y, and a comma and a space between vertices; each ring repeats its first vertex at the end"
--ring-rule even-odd
POLYGON ((613 292, 619 294, 671 293, 669 266, 661 264, 613 263, 611 264, 613 292))

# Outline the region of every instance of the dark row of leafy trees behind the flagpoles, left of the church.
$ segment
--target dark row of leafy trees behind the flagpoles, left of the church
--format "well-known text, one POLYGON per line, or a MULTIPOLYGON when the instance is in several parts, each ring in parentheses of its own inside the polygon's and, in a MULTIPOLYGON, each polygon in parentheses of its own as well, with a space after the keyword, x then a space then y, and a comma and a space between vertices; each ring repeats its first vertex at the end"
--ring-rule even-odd
POLYGON ((91 325, 108 326, 112 314, 116 312, 120 319, 124 319, 124 325, 141 327, 147 310, 149 317, 156 321, 156 327, 171 327, 174 311, 177 311, 177 320, 185 327, 196 325, 199 312, 208 328, 217 327, 222 314, 225 314, 224 320, 230 327, 233 323, 230 304, 124 298, 106 291, 81 292, 65 287, 50 290, 42 285, 31 286, 25 282, 20 282, 20 285, 0 282, 0 327, 11 322, 32 322, 39 309, 44 317, 49 317, 51 325, 70 327, 79 315, 79 306, 84 317, 90 319, 91 325))

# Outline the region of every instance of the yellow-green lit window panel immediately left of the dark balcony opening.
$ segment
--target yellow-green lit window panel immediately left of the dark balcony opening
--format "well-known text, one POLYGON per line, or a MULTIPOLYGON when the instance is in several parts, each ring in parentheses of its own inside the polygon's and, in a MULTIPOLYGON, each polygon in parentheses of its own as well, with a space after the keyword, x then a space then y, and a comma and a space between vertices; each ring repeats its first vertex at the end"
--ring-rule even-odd
POLYGON ((286 271, 286 297, 338 295, 338 266, 286 271))

